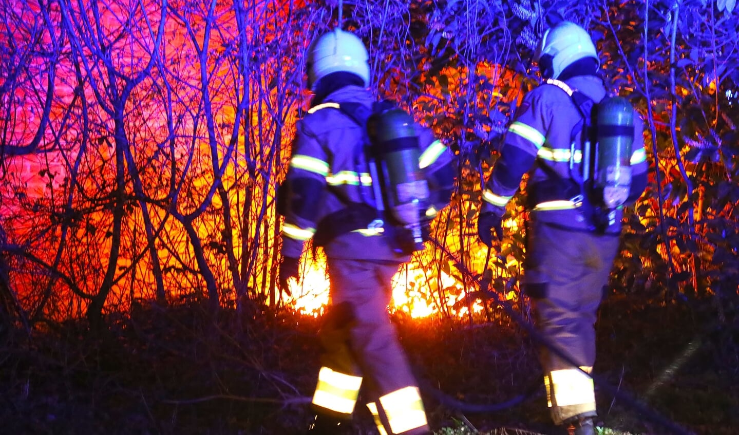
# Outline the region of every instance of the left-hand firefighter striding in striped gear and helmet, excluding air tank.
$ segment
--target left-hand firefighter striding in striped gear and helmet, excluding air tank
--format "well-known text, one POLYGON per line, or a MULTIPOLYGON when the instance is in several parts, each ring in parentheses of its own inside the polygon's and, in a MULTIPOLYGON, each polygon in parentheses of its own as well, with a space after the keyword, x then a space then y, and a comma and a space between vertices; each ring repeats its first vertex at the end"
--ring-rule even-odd
MULTIPOLYGON (((387 312, 392 276, 410 256, 393 249, 393 228, 378 222, 372 186, 378 181, 363 152, 367 129, 347 114, 347 108, 369 112, 377 103, 367 90, 367 50, 357 36, 336 29, 310 44, 307 67, 314 97, 297 125, 278 210, 285 216, 280 281, 296 276, 309 240, 324 247, 330 276, 309 433, 340 433, 363 388, 381 434, 427 434, 418 384, 387 312)), ((451 197, 452 154, 429 129, 414 128, 422 149, 418 165, 432 190, 425 214, 432 219, 451 197)))

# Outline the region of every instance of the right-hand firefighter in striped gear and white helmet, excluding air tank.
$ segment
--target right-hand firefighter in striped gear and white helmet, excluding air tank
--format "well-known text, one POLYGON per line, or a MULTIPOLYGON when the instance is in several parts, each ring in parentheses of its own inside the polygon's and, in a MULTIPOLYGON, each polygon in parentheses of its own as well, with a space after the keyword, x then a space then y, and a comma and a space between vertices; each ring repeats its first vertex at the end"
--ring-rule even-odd
MULTIPOLYGON (((578 435, 593 434, 596 400, 589 373, 596 357, 596 311, 619 247, 621 209, 605 227, 593 222, 583 194, 583 116, 570 93, 593 102, 606 96, 596 77, 599 59, 588 32, 570 22, 551 28, 535 55, 547 83, 522 100, 483 191, 478 234, 490 246, 491 230, 531 170, 526 191, 527 258, 523 288, 531 297, 537 329, 546 339, 540 353, 551 417, 578 435), (548 346, 556 346, 559 352, 548 346), (567 357, 561 357, 566 355, 567 357)), ((627 204, 647 185, 643 123, 634 114, 627 204)))

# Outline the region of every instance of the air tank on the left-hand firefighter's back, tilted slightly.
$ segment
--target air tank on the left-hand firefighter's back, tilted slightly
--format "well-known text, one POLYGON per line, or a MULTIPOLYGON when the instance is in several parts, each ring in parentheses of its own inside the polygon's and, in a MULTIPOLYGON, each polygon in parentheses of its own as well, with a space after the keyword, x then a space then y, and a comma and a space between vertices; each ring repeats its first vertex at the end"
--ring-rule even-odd
MULTIPOLYGON (((413 246, 400 242, 408 253, 423 249, 421 214, 429 208, 429 185, 418 167, 420 145, 413 118, 401 109, 373 114, 367 123, 372 153, 378 164, 384 208, 398 225, 409 230, 413 246)), ((373 180, 374 184, 374 180, 373 180)), ((380 209, 380 207, 378 207, 380 209)), ((403 237, 401 237, 403 239, 403 237)))

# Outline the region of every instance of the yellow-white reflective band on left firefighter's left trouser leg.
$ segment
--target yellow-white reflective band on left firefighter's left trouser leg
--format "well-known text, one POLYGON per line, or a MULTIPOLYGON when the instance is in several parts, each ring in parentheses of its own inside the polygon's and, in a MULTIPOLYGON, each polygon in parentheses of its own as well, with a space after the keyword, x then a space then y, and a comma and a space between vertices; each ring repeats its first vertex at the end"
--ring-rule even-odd
POLYGON ((361 377, 321 367, 319 383, 313 394, 313 405, 347 414, 348 417, 354 411, 361 383, 361 377))

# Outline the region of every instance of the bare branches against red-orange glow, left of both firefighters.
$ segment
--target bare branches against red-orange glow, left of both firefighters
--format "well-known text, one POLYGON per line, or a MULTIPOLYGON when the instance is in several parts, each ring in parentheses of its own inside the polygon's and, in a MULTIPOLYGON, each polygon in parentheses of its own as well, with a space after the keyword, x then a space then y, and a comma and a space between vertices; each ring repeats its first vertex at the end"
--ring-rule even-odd
POLYGON ((65 53, 48 66, 55 75, 30 64, 13 83, 14 107, 32 114, 44 104, 34 91, 52 87, 48 125, 6 123, 10 152, 33 129, 35 151, 48 150, 4 151, 10 284, 35 314, 134 298, 228 304, 273 289, 272 198, 302 98, 291 54, 310 38, 292 20, 307 14, 269 2, 169 6, 4 6, 29 52, 65 53), (34 21, 41 30, 24 27, 34 21))

